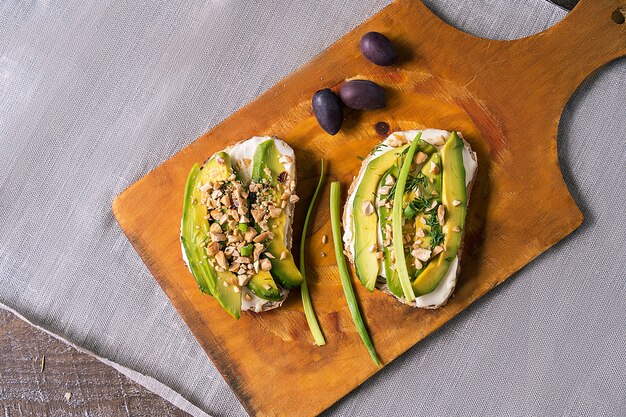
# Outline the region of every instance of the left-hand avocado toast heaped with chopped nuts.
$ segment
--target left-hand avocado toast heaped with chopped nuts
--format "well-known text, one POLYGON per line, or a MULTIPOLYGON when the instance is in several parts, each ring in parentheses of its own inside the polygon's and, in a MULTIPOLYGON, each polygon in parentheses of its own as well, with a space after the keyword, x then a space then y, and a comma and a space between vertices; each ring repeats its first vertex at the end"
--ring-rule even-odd
POLYGON ((200 290, 234 317, 279 307, 302 284, 290 253, 295 172, 293 149, 266 136, 217 152, 189 173, 183 259, 200 290))

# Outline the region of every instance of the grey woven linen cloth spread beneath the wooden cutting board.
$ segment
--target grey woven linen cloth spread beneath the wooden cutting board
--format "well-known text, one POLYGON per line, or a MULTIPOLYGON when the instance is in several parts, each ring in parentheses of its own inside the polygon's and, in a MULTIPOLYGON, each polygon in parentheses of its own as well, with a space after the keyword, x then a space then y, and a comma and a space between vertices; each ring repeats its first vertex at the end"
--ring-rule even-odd
MULTIPOLYGON (((0 2, 0 303, 196 416, 245 415, 111 201, 386 3, 0 2)), ((426 3, 492 38, 565 16, 544 0, 426 3)), ((626 415, 625 92, 619 60, 563 114, 585 224, 328 415, 626 415)))

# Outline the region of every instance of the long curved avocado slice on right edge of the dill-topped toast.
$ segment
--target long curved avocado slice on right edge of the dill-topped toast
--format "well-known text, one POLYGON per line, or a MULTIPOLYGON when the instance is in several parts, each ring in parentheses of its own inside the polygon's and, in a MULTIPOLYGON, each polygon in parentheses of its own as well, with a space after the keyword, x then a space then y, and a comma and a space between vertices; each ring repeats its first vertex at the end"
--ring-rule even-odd
POLYGON ((461 245, 461 236, 467 214, 467 188, 465 185, 465 165, 463 164, 463 141, 456 132, 440 151, 441 155, 441 204, 446 209, 445 223, 442 226, 444 251, 431 259, 413 281, 416 295, 428 294, 437 288, 444 278, 461 245), (453 201, 460 202, 458 205, 453 201), (455 231, 455 228, 457 228, 455 231))

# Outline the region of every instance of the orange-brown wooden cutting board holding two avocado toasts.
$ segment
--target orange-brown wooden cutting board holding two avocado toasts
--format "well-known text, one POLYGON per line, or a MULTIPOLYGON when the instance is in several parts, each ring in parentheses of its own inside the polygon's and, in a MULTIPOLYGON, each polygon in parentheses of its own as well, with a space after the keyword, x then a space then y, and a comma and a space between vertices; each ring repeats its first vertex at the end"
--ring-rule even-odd
MULTIPOLYGON (((256 416, 311 416, 328 408, 381 368, 368 356, 350 318, 335 267, 328 187, 309 231, 307 276, 327 345, 316 347, 293 291, 278 310, 232 319, 203 295, 180 254, 183 188, 191 166, 254 135, 277 135, 295 148, 301 225, 319 160, 345 190, 360 160, 392 130, 459 130, 478 153, 462 273, 454 298, 440 310, 417 310, 355 285, 384 364, 434 332, 583 221, 559 169, 561 111, 592 71, 626 53, 626 24, 615 23, 624 0, 582 0, 560 23, 514 41, 476 38, 442 22, 417 0, 398 0, 304 67, 133 184, 113 212, 163 290, 233 389, 256 416), (360 54, 371 30, 390 37, 402 61, 377 67, 360 54), (311 112, 312 94, 347 78, 387 88, 386 109, 347 111, 344 128, 324 133, 311 112), (322 252, 328 256, 322 257, 322 252)), ((622 6, 626 11, 626 6, 622 6)), ((299 239, 296 239, 299 241, 299 239)), ((294 245, 297 253, 298 245, 294 245)), ((354 276, 353 276, 354 279, 354 276)), ((356 280, 355 280, 356 282, 356 280)))

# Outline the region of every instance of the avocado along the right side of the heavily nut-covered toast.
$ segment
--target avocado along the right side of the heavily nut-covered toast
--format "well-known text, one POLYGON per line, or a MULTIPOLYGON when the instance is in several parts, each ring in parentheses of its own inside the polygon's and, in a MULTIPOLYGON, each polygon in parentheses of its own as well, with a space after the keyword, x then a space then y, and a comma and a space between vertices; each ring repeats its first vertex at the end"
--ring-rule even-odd
MULTIPOLYGON (((272 196, 277 203, 280 203, 282 195, 282 182, 279 177, 285 172, 284 165, 279 160, 279 152, 273 139, 268 139, 258 145, 252 159, 252 181, 261 182, 264 179, 270 181, 275 191, 272 196), (269 170, 266 172, 266 169, 269 170)), ((280 204, 277 204, 280 207, 280 204)), ((271 275, 276 278, 285 288, 297 288, 302 285, 302 275, 294 263, 291 252, 285 246, 285 224, 287 214, 283 210, 277 218, 268 220, 269 230, 274 234, 269 242, 267 252, 274 258, 270 258, 272 263, 271 275), (281 254, 284 254, 281 258, 281 254)), ((257 225, 258 226, 258 225, 257 225)))

